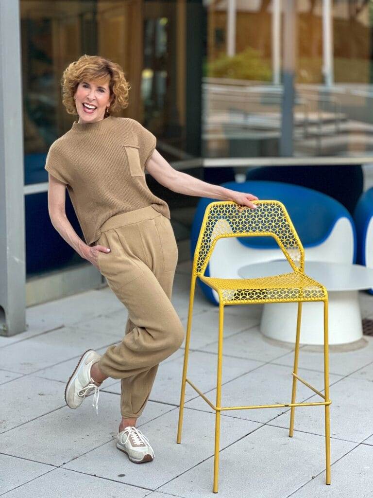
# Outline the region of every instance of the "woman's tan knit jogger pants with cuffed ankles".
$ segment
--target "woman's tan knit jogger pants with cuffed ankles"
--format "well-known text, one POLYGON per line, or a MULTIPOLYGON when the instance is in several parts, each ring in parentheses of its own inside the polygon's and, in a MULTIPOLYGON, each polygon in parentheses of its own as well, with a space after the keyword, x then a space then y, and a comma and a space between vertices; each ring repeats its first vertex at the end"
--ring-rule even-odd
POLYGON ((171 303, 178 247, 171 222, 152 206, 109 218, 96 244, 98 266, 128 310, 125 336, 98 366, 121 379, 121 414, 141 415, 158 365, 182 345, 185 329, 171 303))

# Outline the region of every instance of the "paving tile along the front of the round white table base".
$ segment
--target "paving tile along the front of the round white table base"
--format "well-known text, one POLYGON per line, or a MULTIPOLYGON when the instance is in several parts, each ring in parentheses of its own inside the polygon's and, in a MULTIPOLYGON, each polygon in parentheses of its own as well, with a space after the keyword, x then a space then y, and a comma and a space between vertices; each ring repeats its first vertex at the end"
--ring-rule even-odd
MULTIPOLYGON (((349 375, 372 363, 373 337, 364 336, 356 347, 358 348, 356 350, 353 350, 353 346, 348 344, 330 347, 329 372, 349 375)), ((292 367, 293 358, 294 355, 289 353, 274 360, 273 363, 292 367)), ((299 352, 299 367, 322 372, 324 369, 324 355, 321 348, 319 346, 303 346, 299 352)))

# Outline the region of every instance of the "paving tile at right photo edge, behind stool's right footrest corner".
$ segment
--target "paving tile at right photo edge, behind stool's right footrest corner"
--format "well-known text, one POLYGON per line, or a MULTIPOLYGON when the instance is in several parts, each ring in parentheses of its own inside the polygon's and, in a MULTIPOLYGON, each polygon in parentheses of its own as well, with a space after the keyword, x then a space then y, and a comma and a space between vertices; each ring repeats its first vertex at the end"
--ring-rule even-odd
MULTIPOLYGON (((316 394, 308 401, 319 400, 316 394)), ((361 443, 373 433, 372 383, 346 377, 330 386, 330 435, 361 443)), ((286 427, 289 413, 273 420, 271 425, 286 427)), ((294 428, 312 434, 324 434, 324 407, 301 408, 295 413, 294 428)))

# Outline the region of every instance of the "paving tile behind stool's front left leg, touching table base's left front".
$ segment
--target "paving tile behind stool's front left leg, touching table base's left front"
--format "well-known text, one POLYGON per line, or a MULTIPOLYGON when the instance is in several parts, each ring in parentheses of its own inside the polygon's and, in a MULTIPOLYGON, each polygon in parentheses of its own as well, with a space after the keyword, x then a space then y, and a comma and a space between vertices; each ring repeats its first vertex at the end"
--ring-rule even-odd
MULTIPOLYGON (((236 317, 234 317, 234 319, 236 319, 236 317)), ((261 334, 259 327, 253 327, 250 330, 244 330, 231 337, 224 337, 223 355, 270 362, 293 350, 291 345, 286 346, 284 343, 282 344, 283 345, 280 345, 279 343, 279 345, 276 345, 273 341, 270 342, 261 334)), ((209 351, 216 354, 217 349, 218 342, 201 348, 202 351, 209 351)))

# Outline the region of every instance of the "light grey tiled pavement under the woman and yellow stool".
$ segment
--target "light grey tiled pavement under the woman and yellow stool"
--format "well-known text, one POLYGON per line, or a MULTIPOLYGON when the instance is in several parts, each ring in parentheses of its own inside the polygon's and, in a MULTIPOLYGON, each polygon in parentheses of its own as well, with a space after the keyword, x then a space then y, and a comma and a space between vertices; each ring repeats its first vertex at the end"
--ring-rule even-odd
MULTIPOLYGON (((178 266, 173 302, 186 325, 190 263, 178 266)), ((365 317, 373 296, 361 293, 365 317)), ((284 402, 291 391, 291 350, 265 341, 259 306, 227 307, 223 403, 284 402)), ((214 399, 217 308, 197 289, 189 378, 214 399)), ((88 348, 118 342, 126 310, 110 289, 93 290, 27 310, 28 331, 0 337, 0 495, 6 498, 211 497, 214 415, 187 389, 182 444, 176 444, 184 350, 159 368, 138 426, 155 460, 136 465, 115 448, 119 384, 107 379, 98 416, 92 397, 78 410, 65 382, 88 348)), ((317 349, 317 348, 316 348, 317 349)), ((222 416, 220 497, 329 498, 373 495, 373 339, 330 354, 332 485, 324 479, 321 407, 299 408, 294 437, 287 410, 222 416)), ((303 347, 300 375, 322 389, 322 355, 303 347)), ((315 396, 300 384, 298 399, 315 396)))

